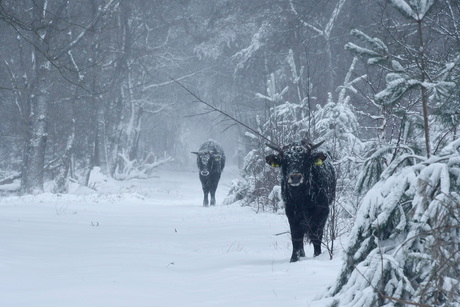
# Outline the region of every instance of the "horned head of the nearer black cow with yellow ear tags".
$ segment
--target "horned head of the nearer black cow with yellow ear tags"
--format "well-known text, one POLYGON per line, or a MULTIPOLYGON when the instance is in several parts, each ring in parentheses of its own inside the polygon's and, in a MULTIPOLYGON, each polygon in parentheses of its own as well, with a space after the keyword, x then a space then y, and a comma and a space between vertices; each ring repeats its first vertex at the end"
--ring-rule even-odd
POLYGON ((324 153, 313 151, 323 143, 324 141, 313 145, 307 140, 302 140, 283 148, 267 144, 278 153, 268 155, 265 160, 272 167, 281 167, 287 183, 298 187, 309 179, 305 177, 310 175, 313 166, 322 165, 326 160, 324 153))

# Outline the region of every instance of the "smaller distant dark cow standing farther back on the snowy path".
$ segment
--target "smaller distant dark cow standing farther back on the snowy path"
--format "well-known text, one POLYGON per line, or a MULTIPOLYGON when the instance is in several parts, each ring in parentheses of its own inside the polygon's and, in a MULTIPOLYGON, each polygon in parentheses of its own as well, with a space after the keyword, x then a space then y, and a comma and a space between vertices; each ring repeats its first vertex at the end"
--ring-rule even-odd
POLYGON ((217 184, 225 166, 224 150, 216 141, 207 140, 201 144, 199 151, 192 153, 197 155, 196 163, 200 170, 201 186, 204 193, 203 206, 209 205, 209 193, 211 193, 211 206, 215 206, 217 184))

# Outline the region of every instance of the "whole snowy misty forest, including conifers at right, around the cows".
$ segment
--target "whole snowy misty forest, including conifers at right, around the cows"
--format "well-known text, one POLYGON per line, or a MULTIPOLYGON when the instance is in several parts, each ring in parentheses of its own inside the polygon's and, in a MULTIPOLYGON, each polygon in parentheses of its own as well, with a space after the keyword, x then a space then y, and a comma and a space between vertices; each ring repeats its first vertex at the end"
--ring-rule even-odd
POLYGON ((326 140, 330 252, 355 224, 330 306, 458 299, 460 1, 0 0, 0 33, 3 194, 194 167, 214 138, 225 203, 276 212, 264 138, 326 140))

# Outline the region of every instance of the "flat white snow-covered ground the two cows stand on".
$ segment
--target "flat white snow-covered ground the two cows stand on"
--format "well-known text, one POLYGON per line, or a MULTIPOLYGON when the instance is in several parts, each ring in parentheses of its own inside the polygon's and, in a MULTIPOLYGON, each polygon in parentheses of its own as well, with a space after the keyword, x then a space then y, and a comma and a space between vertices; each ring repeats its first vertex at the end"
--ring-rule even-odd
POLYGON ((235 176, 210 208, 195 171, 0 198, 0 306, 309 306, 341 257, 289 263, 284 215, 220 205, 235 176))

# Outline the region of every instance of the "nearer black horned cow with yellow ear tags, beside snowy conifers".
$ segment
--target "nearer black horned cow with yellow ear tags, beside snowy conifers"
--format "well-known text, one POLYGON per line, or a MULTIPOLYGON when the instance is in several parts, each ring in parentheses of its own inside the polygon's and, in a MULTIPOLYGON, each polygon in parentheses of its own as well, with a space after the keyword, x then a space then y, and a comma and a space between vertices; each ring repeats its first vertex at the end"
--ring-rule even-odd
MULTIPOLYGON (((323 141, 324 142, 324 141, 323 141)), ((279 148, 267 144, 277 154, 266 157, 273 167, 281 167, 281 196, 289 220, 292 239, 291 262, 305 257, 304 234, 313 243, 314 254, 321 254, 324 225, 335 198, 335 170, 327 155, 307 140, 279 148)))

